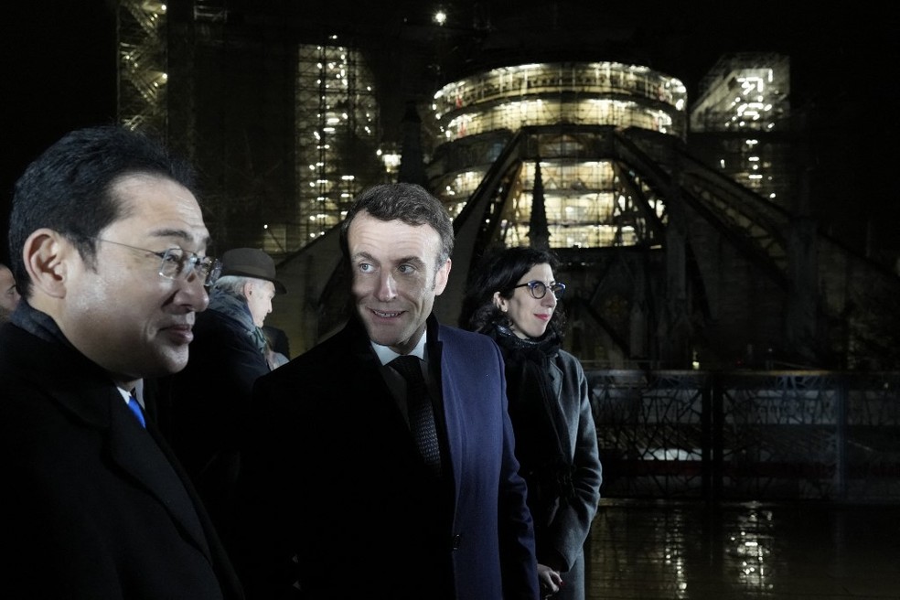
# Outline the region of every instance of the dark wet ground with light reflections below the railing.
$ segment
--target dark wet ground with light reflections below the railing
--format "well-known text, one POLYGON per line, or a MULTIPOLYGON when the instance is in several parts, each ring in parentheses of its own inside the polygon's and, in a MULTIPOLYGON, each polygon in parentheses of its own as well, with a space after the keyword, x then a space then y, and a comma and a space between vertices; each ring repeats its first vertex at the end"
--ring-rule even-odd
POLYGON ((900 506, 604 499, 585 559, 588 600, 896 599, 900 506))

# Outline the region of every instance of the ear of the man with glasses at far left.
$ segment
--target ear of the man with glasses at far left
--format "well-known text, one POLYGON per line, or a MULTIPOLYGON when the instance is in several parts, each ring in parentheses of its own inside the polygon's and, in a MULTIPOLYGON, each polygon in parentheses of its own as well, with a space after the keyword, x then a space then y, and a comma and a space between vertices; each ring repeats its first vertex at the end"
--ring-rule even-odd
POLYGON ((53 298, 66 296, 67 278, 73 266, 70 262, 77 254, 78 249, 59 231, 47 228, 32 232, 22 248, 32 286, 53 298))

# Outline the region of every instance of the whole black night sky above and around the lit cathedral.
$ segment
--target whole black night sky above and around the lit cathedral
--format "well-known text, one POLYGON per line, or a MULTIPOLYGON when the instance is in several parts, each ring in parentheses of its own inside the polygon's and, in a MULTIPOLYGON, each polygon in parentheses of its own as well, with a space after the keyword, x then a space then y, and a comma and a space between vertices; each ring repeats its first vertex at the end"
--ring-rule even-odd
MULTIPOLYGON (((272 1, 273 5, 290 6, 289 10, 302 13, 301 27, 325 30, 343 23, 358 36, 379 39, 391 57, 402 55, 402 49, 391 48, 396 38, 384 35, 391 31, 391 23, 403 21, 408 29, 417 21, 428 25, 427 3, 423 0, 362 3, 365 8, 340 0, 272 1), (390 22, 382 24, 379 19, 390 22)), ((453 7, 472 3, 444 4, 453 7)), ((476 4, 482 11, 487 7, 493 27, 506 27, 507 19, 509 30, 514 29, 520 39, 527 40, 531 31, 547 27, 520 16, 522 11, 516 6, 536 5, 533 0, 476 4)), ((648 46, 659 45, 659 39, 665 37, 670 56, 658 55, 648 66, 679 77, 688 85, 691 97, 702 74, 724 52, 788 54, 795 112, 815 109, 820 121, 833 118, 833 127, 823 129, 814 141, 820 145, 821 170, 834 183, 828 188, 835 191, 822 199, 829 219, 841 223, 853 242, 861 243, 861 236, 869 231, 877 243, 900 252, 900 184, 896 176, 900 126, 895 108, 900 98, 896 72, 900 20, 886 8, 880 12, 863 10, 863 4, 844 4, 840 8, 819 5, 815 10, 803 10, 787 7, 785 2, 757 2, 753 6, 771 6, 771 12, 763 19, 746 20, 742 19, 742 10, 749 6, 745 3, 703 6, 706 3, 692 2, 687 9, 635 1, 559 4, 563 6, 560 10, 569 11, 570 16, 571 11, 582 11, 576 19, 580 30, 573 29, 572 37, 590 37, 592 31, 605 35, 616 27, 630 28, 633 39, 647 39, 648 46)), ((232 0, 230 5, 253 3, 232 0)), ((115 20, 104 0, 37 0, 8 3, 0 22, 5 73, 5 110, 0 123, 0 139, 5 146, 0 169, 0 225, 4 232, 0 260, 5 261, 9 198, 27 163, 71 129, 115 119, 115 20)))

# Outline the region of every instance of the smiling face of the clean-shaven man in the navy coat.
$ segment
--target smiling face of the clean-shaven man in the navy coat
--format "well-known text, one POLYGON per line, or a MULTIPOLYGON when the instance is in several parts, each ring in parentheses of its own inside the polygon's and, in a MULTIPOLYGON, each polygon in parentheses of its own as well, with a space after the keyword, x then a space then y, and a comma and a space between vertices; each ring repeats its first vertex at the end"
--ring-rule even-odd
POLYGON ((408 353, 422 336, 434 297, 447 284, 450 259, 435 269, 440 236, 428 225, 360 212, 350 223, 347 241, 353 297, 369 338, 408 353))

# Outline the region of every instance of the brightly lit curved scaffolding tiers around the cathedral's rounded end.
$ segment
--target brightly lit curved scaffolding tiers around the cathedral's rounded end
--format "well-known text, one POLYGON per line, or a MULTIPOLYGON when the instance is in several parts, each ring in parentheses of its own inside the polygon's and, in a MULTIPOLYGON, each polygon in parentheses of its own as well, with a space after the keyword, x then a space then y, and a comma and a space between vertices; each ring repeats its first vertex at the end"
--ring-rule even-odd
MULTIPOLYGON (((434 129, 445 151, 465 138, 516 132, 527 125, 566 123, 615 125, 684 139, 686 91, 680 80, 646 67, 622 63, 533 64, 488 71, 446 85, 434 96, 434 129)), ((588 147, 578 134, 542 145, 541 180, 553 248, 591 248, 654 243, 645 210, 667 220, 664 202, 643 182, 620 181, 612 163, 584 160, 588 147), (552 155, 548 153, 552 149, 552 155), (636 198, 633 194, 638 193, 636 198)), ((466 147, 450 161, 467 158, 466 147)), ((484 156, 476 164, 437 177, 436 189, 452 215, 485 177, 484 156)), ((507 245, 528 243, 535 163, 525 161, 500 214, 499 237, 507 245)))

